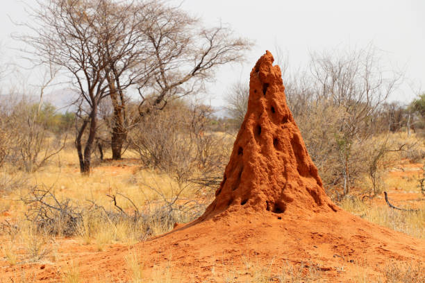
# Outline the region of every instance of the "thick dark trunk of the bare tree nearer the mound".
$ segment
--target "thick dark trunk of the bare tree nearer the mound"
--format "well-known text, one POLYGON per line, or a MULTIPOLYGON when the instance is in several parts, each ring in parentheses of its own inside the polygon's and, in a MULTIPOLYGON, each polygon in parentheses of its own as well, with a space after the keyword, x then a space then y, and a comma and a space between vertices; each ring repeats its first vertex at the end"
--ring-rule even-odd
POLYGON ((110 99, 114 108, 110 146, 113 152, 113 160, 120 160, 122 158, 122 147, 127 138, 127 129, 124 125, 126 105, 122 91, 115 87, 115 83, 110 76, 108 76, 108 83, 110 99))

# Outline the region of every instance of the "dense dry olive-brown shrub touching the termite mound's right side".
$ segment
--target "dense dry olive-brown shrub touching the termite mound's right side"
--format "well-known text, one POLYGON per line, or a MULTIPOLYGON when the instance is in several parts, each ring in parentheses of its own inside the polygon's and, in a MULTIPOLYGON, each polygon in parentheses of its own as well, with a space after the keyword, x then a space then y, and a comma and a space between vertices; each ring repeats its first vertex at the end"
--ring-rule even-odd
POLYGON ((346 162, 349 166, 349 183, 355 185, 368 172, 369 139, 347 141, 340 132, 344 123, 344 110, 329 101, 314 101, 304 106, 295 117, 308 153, 317 166, 326 193, 334 200, 342 198, 346 162))

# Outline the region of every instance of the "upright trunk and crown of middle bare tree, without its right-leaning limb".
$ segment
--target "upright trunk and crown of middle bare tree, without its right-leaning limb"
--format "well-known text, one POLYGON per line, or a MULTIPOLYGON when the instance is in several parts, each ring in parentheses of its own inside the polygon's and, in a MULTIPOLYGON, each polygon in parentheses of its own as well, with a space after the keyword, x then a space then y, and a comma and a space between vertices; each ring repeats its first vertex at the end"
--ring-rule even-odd
POLYGON ((153 1, 119 2, 101 0, 97 8, 99 49, 106 62, 106 80, 113 115, 110 121, 113 160, 122 157, 128 127, 126 89, 153 72, 155 65, 147 53, 147 10, 153 1))

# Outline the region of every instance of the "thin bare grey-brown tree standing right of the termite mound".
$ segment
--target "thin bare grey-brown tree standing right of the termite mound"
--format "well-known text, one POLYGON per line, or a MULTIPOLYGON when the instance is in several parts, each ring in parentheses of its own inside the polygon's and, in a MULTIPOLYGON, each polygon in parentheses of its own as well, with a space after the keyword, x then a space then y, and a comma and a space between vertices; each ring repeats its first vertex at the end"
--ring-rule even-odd
POLYGON ((344 109, 335 135, 344 165, 344 196, 349 194, 351 146, 371 135, 377 110, 400 83, 401 75, 386 74, 372 46, 351 53, 313 54, 311 71, 317 100, 330 100, 344 109))

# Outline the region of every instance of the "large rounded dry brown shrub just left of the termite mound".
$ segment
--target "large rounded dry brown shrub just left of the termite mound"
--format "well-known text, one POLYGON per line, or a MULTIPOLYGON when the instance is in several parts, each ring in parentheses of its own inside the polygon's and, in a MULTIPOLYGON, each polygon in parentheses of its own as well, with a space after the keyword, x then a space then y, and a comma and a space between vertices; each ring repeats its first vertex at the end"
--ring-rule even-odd
POLYGON ((226 135, 211 132, 211 108, 174 103, 149 112, 131 132, 143 164, 173 175, 178 182, 205 180, 217 185, 228 161, 226 135))

